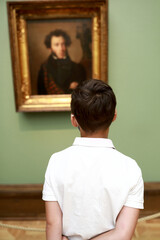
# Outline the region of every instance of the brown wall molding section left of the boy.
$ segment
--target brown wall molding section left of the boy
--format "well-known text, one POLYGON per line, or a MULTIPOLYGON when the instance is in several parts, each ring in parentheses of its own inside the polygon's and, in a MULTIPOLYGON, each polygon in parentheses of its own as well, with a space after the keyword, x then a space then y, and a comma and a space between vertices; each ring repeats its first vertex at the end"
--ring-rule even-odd
POLYGON ((0 185, 0 219, 44 219, 42 186, 0 185))

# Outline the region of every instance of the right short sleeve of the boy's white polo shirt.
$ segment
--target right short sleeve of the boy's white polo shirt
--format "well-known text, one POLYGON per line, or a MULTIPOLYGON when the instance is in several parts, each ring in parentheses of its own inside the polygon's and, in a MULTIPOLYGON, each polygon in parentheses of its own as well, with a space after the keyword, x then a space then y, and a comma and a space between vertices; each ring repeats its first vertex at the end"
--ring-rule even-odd
POLYGON ((137 183, 130 189, 126 203, 127 207, 143 209, 144 203, 144 182, 142 175, 140 175, 137 183))

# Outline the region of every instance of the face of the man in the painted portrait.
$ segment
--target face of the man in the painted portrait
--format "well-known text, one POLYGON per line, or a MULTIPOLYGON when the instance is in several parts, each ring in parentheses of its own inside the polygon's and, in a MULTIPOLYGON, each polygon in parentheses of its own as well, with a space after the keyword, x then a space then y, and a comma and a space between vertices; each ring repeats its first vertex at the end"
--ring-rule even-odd
POLYGON ((57 56, 57 58, 63 59, 66 56, 66 44, 65 39, 62 36, 51 38, 51 50, 57 56))

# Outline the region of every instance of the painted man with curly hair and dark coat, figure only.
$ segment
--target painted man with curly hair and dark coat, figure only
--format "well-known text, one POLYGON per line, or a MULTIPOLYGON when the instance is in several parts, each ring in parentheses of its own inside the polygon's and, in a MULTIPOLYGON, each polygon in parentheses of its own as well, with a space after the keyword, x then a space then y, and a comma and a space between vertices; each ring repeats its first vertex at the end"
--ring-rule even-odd
POLYGON ((70 36, 56 29, 46 36, 44 43, 51 53, 38 74, 38 94, 71 93, 86 80, 86 72, 80 63, 73 62, 69 57, 67 47, 71 45, 70 36))

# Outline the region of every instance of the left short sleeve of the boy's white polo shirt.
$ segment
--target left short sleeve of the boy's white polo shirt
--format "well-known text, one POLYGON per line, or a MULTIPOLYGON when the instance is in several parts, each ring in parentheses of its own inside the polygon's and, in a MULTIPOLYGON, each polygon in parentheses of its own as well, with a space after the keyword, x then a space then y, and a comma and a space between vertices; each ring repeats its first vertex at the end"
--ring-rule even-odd
POLYGON ((52 164, 50 160, 45 173, 45 181, 44 181, 43 191, 42 191, 42 199, 44 201, 57 201, 57 197, 55 194, 55 184, 53 182, 54 172, 52 171, 52 176, 50 175, 51 167, 52 167, 52 164))

